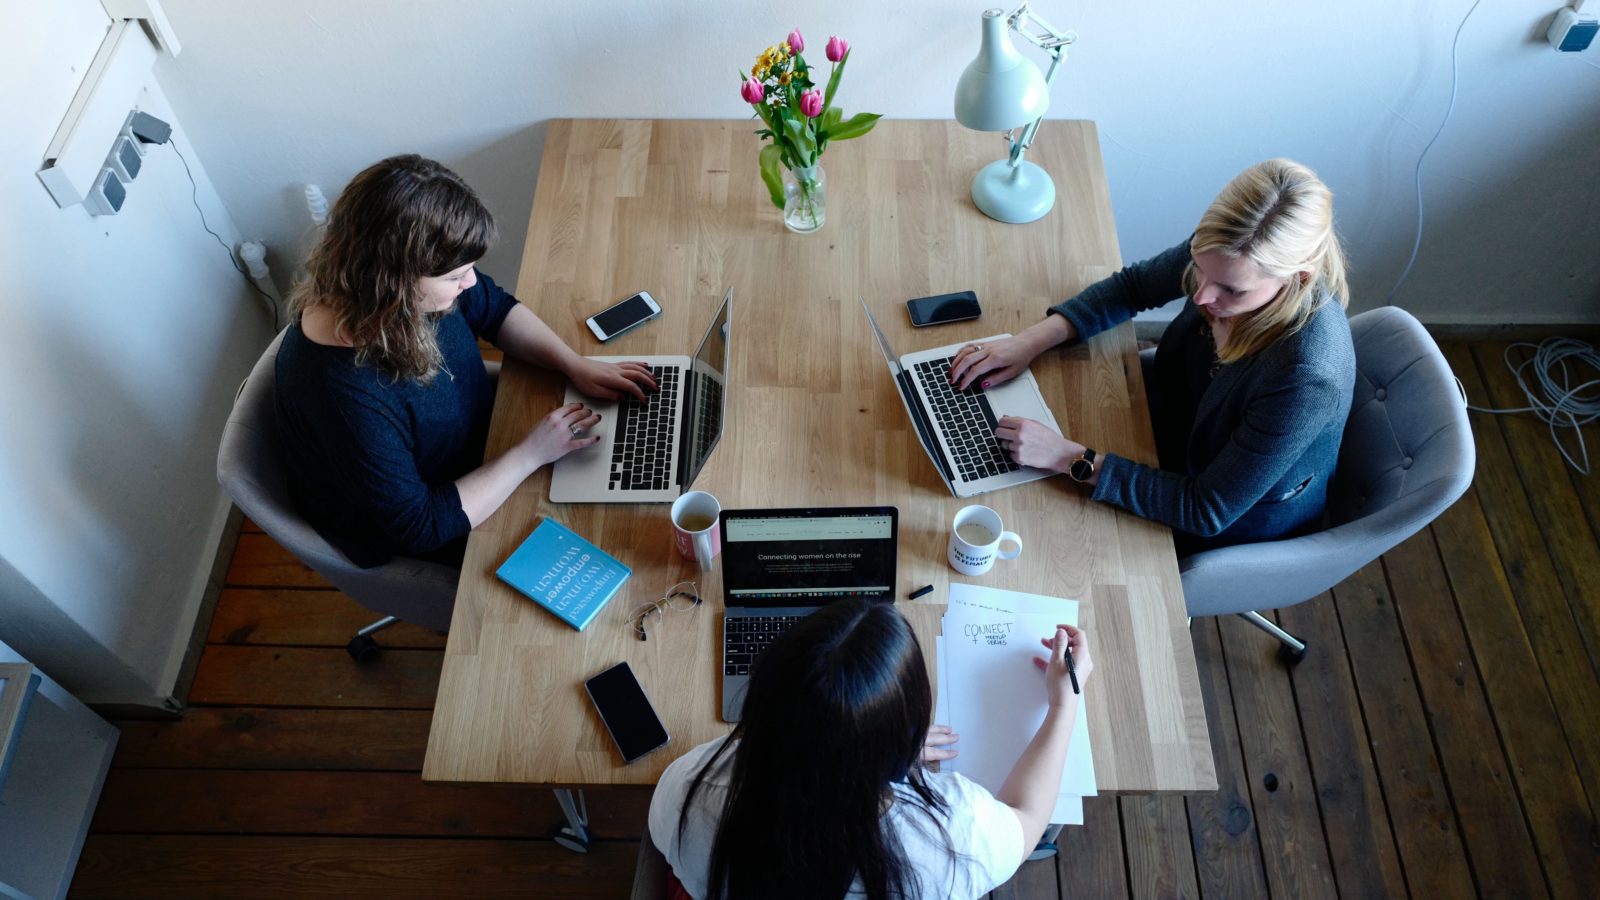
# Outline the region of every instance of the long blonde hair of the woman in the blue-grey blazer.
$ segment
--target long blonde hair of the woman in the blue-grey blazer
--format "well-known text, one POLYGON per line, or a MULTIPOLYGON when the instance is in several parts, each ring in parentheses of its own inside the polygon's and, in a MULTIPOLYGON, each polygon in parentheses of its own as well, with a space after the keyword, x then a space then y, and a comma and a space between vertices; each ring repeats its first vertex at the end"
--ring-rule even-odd
MULTIPOLYGON (((1349 306, 1344 248, 1333 231, 1333 192, 1304 165, 1275 159, 1238 173, 1200 216, 1189 253, 1250 259, 1285 285, 1266 306, 1238 317, 1222 364, 1238 362, 1301 330, 1328 299, 1349 306), (1310 272, 1301 277, 1301 272, 1310 272)), ((1184 290, 1198 285, 1190 261, 1184 290)))

